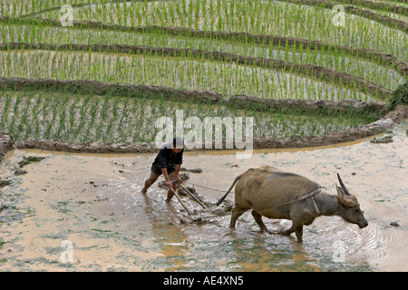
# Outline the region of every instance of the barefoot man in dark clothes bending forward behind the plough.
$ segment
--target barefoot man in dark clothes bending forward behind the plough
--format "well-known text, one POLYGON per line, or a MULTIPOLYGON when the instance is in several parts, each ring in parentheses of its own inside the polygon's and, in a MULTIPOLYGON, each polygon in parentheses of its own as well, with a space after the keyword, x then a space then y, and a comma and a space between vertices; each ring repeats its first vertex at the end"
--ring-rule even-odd
POLYGON ((141 193, 145 194, 147 189, 163 174, 164 179, 166 179, 166 185, 169 187, 166 202, 170 202, 174 195, 170 187, 176 190, 176 183, 171 183, 171 181, 181 181, 179 171, 181 163, 183 162, 183 151, 184 140, 180 137, 174 138, 172 144, 164 144, 160 148, 156 159, 151 164, 151 177, 144 182, 144 188, 141 189, 141 193))

